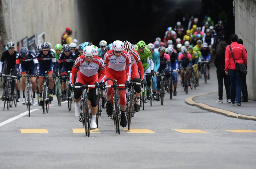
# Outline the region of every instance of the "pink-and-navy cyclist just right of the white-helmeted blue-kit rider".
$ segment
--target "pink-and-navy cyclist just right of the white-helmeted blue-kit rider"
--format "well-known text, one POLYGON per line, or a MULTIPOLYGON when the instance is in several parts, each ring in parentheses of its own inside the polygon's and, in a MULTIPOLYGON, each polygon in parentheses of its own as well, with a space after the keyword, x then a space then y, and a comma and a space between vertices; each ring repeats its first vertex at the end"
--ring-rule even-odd
POLYGON ((191 58, 191 55, 187 53, 188 50, 186 48, 183 48, 181 52, 182 53, 178 57, 178 69, 180 71, 180 75, 182 78, 181 83, 183 84, 184 82, 184 70, 186 69, 188 73, 189 86, 191 86, 189 69, 190 69, 190 66, 192 66, 192 58, 191 58))

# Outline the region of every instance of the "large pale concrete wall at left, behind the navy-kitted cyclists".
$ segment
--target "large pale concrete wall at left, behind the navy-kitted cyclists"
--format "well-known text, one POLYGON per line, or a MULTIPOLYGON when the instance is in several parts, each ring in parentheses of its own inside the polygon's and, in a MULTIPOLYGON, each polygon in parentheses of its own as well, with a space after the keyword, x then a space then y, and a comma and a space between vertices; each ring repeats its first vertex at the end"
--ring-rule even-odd
MULTIPOLYGON (((1 0, 4 27, 7 37, 4 43, 18 41, 45 31, 46 41, 61 43, 66 27, 77 38, 76 0, 1 0)), ((16 46, 16 45, 15 45, 16 46)))

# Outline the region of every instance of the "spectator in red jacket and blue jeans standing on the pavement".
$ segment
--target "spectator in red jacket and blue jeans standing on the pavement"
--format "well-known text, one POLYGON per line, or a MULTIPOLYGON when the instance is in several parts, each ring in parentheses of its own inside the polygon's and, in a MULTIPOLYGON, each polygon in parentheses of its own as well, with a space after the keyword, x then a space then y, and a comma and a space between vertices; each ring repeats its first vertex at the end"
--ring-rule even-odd
POLYGON ((235 104, 235 98, 236 103, 238 106, 241 105, 241 73, 240 71, 236 71, 236 64, 245 64, 247 66, 247 54, 245 51, 245 48, 242 44, 237 43, 237 35, 232 34, 230 36, 231 45, 226 47, 225 51, 225 73, 226 75, 229 74, 230 77, 230 98, 231 98, 231 104, 235 104), (233 60, 230 48, 233 52, 235 62, 233 60))

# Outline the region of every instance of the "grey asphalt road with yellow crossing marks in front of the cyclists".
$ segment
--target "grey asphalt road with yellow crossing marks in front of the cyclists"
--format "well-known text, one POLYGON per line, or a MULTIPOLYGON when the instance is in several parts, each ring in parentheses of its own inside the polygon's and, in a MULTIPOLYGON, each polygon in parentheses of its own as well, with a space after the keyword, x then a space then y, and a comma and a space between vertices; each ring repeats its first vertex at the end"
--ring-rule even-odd
POLYGON ((211 80, 189 89, 187 95, 179 84, 178 95, 172 100, 166 96, 163 106, 147 103, 132 119, 132 129, 146 129, 131 129, 139 133, 120 128, 117 135, 105 110, 99 131, 90 137, 74 133, 82 123, 73 110, 68 111, 67 103, 58 107, 56 97, 49 113, 36 106, 31 117, 26 114, 13 121, 8 119, 26 112, 26 106, 19 103, 2 111, 0 102, 0 168, 255 168, 256 133, 244 131, 256 131, 255 121, 210 113, 184 102, 186 97, 217 90, 211 68, 211 80), (6 120, 11 122, 4 124, 6 120))

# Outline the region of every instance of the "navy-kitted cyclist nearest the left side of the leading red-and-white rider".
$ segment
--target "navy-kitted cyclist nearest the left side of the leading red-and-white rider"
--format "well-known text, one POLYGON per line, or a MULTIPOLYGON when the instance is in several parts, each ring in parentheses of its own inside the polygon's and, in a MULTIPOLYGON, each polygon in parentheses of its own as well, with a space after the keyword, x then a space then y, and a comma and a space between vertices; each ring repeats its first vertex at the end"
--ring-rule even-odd
MULTIPOLYGON (((71 43, 70 43, 71 44, 71 43)), ((68 71, 72 70, 73 67, 73 61, 75 57, 75 53, 70 51, 70 46, 68 44, 64 44, 62 46, 63 53, 60 54, 58 65, 62 63, 62 68, 59 66, 58 70, 61 76, 64 76, 61 78, 62 80, 62 101, 65 101, 67 99, 66 93, 67 93, 67 73, 68 71)))

